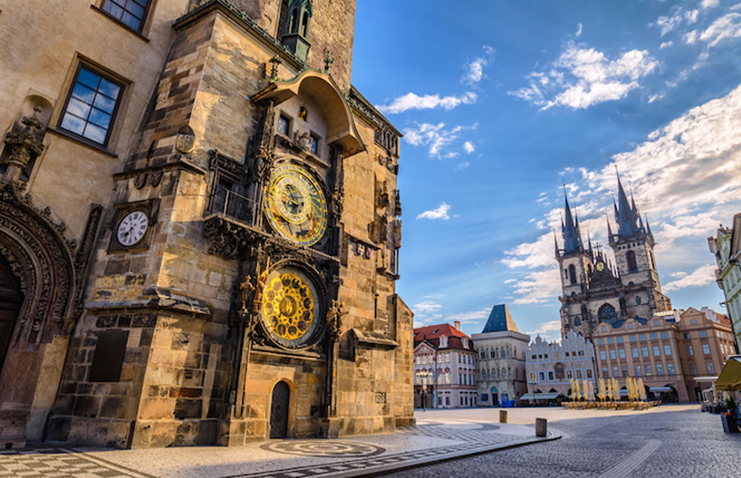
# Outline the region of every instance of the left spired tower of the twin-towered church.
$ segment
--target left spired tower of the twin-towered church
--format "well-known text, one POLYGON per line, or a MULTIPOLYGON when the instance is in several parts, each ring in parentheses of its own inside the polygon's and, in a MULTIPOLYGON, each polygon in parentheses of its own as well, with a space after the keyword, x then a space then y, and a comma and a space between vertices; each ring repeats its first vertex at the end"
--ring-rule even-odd
POLYGON ((591 241, 588 242, 588 248, 584 247, 582 232, 579 229, 579 217, 576 216, 576 211, 572 214, 565 190, 564 203, 565 221, 561 219, 562 249, 559 249, 558 239, 554 238, 563 291, 561 327, 565 331, 581 331, 582 329, 586 331, 588 317, 587 311, 582 308, 582 302, 589 289, 594 257, 591 241))

